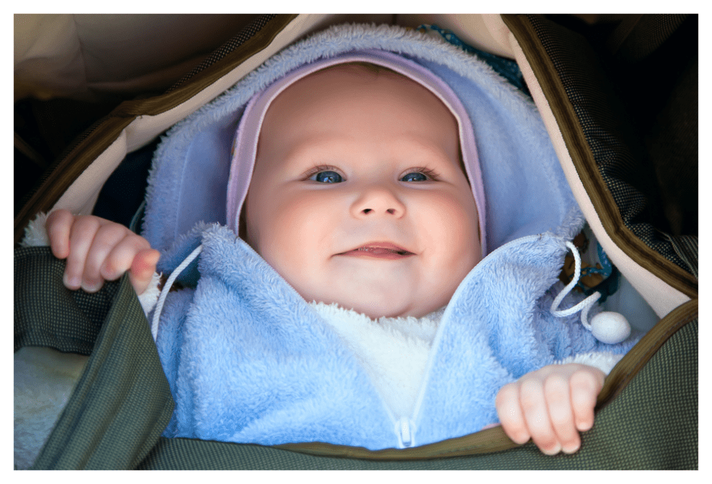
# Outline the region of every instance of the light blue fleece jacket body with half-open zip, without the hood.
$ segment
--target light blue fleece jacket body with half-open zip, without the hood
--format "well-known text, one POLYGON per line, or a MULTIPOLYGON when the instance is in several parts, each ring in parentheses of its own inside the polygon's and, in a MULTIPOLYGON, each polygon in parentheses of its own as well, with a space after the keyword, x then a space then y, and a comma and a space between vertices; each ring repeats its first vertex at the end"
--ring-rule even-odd
MULTIPOLYGON (((553 317, 565 240, 520 238, 461 283, 437 325, 413 406, 397 407, 359 352, 234 232, 216 224, 193 235, 203 246, 201 279, 196 289, 169 293, 159 325, 176 401, 164 436, 422 445, 496 423, 497 391, 525 373, 578 354, 624 354, 637 342, 603 344, 579 315, 553 317)), ((568 295, 562 307, 575 302, 568 295)))

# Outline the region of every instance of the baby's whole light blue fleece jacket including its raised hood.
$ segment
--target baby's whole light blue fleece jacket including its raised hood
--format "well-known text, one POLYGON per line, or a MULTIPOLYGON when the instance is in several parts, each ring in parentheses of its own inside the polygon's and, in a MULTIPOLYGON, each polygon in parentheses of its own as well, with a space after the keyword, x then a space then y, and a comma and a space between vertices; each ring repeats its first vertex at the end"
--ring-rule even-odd
MULTIPOLYGON (((583 224, 535 106, 486 63, 393 26, 335 26, 293 44, 175 125, 155 155, 143 235, 162 252, 159 270, 171 273, 203 246, 178 278, 187 288, 168 294, 159 319, 177 405, 164 435, 422 445, 496 423, 497 391, 527 372, 577 359, 612 366, 637 337, 602 344, 578 314, 550 313, 565 242, 583 224), (231 144, 248 100, 305 63, 368 49, 409 58, 456 93, 485 189, 488 255, 441 317, 414 323, 423 328, 415 338, 395 326, 379 336, 382 324, 348 327, 353 315, 338 322, 225 226, 231 144), (412 358, 370 351, 374 338, 412 358)), ((579 299, 568 295, 560 307, 579 299)))

